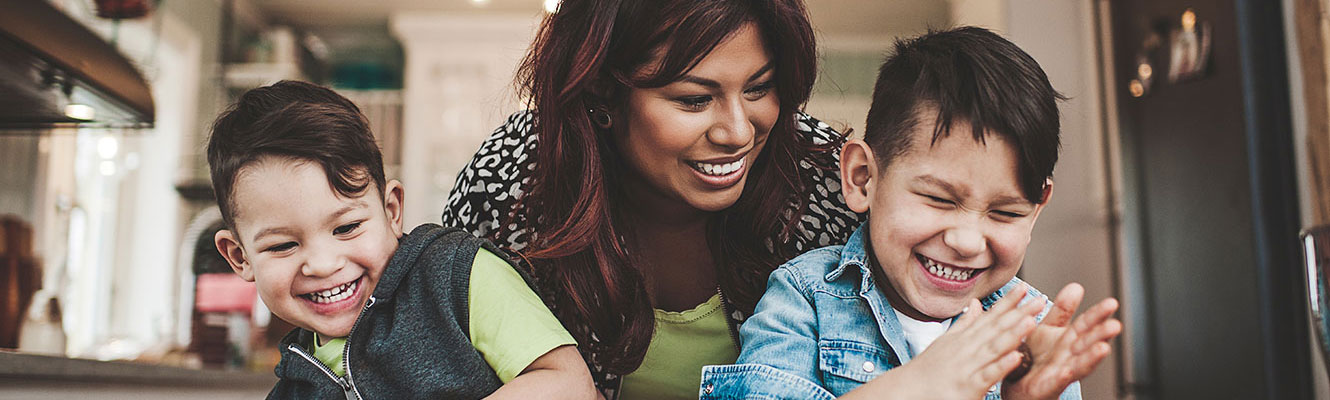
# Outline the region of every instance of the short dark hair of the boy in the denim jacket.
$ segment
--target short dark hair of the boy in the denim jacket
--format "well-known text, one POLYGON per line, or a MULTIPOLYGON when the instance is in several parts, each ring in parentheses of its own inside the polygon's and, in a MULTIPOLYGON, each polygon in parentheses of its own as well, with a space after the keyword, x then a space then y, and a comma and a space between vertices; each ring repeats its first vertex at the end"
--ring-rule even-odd
POLYGON ((1059 149, 1057 100, 1035 58, 988 29, 962 27, 896 41, 872 89, 864 142, 887 166, 910 149, 920 112, 936 112, 932 142, 968 122, 974 138, 999 134, 1016 146, 1020 187, 1039 203, 1059 149))

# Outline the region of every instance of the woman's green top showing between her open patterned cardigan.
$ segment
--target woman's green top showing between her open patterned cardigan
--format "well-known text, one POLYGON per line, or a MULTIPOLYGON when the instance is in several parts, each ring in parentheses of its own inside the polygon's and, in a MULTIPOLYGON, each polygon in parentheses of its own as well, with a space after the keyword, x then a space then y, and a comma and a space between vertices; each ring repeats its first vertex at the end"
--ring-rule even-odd
POLYGON ((620 399, 697 399, 702 365, 739 357, 724 310, 720 294, 684 312, 656 310, 656 335, 642 365, 624 376, 620 399))

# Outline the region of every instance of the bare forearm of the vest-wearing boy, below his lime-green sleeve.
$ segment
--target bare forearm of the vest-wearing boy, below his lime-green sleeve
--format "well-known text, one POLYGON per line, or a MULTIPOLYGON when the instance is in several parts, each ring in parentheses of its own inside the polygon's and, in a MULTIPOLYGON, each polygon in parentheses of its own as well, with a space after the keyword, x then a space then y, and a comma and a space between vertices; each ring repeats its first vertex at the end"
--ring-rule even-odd
POLYGON ((600 399, 600 393, 577 347, 569 344, 540 356, 485 399, 600 399))

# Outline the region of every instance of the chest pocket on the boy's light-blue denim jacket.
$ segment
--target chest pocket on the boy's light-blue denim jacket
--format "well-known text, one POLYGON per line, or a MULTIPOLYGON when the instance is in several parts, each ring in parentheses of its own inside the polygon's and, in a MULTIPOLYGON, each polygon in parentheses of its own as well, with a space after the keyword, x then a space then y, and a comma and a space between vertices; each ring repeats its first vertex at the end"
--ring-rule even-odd
POLYGON ((822 340, 818 368, 831 393, 843 396, 892 368, 890 352, 882 347, 850 340, 822 340))

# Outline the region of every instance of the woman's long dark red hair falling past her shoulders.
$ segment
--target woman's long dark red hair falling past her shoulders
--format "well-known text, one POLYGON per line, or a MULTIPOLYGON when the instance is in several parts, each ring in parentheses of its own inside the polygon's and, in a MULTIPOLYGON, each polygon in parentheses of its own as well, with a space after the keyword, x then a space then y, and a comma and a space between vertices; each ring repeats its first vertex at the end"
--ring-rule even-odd
MULTIPOLYGON (((743 194, 709 222, 706 239, 728 299, 751 311, 767 274, 793 256, 777 254, 771 249, 781 246, 770 241, 789 238, 797 223, 810 186, 798 163, 818 150, 794 126, 817 74, 803 1, 565 0, 544 20, 519 69, 539 144, 531 190, 512 215, 533 233, 523 255, 555 314, 608 372, 641 364, 654 320, 632 242, 622 239, 628 230, 618 225, 630 207, 617 185, 626 167, 588 109, 621 104, 628 88, 677 80, 747 23, 758 27, 775 62, 781 116, 743 194), (648 62, 658 68, 641 76, 648 62)), ((501 226, 495 237, 516 225, 501 226)))

